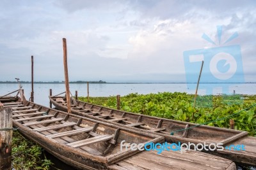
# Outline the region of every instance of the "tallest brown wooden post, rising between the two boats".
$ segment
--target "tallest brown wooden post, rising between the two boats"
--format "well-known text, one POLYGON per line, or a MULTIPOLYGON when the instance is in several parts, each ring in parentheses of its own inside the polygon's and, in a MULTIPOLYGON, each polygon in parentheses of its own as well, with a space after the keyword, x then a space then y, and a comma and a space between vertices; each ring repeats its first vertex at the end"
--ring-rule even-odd
POLYGON ((64 62, 64 72, 65 72, 67 107, 68 107, 68 113, 71 113, 69 81, 68 81, 67 42, 66 42, 66 38, 63 38, 62 40, 63 40, 63 62, 64 62))

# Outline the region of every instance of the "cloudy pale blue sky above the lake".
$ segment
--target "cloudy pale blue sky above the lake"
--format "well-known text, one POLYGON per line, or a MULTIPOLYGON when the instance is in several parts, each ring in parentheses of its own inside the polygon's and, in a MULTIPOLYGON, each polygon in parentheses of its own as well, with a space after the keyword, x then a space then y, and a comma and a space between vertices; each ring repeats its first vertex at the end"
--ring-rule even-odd
POLYGON ((190 54, 199 51, 202 81, 255 82, 255 7, 254 0, 2 0, 0 81, 30 81, 31 55, 35 81, 63 81, 66 38, 70 81, 196 82, 202 61, 190 54))

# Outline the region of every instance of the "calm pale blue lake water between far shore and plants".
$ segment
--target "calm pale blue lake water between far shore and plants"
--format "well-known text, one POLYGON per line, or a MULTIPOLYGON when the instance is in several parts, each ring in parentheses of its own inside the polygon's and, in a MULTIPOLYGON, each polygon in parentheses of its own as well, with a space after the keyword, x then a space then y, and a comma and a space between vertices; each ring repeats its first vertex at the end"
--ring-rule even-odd
MULTIPOLYGON (((24 94, 27 99, 30 97, 31 85, 22 84, 24 94)), ((157 92, 188 92, 195 94, 196 84, 186 83, 102 83, 90 84, 89 92, 92 97, 108 97, 120 94, 125 96, 127 94, 138 92, 138 94, 149 94, 157 92)), ((236 94, 256 94, 256 83, 239 83, 239 84, 217 84, 217 83, 202 83, 199 85, 198 94, 207 94, 205 89, 210 89, 210 94, 222 94, 222 87, 228 91, 225 94, 232 94, 235 90, 236 94), (212 90, 211 90, 212 89, 212 90)), ((0 96, 18 89, 18 84, 0 83, 0 96)), ((52 95, 65 92, 64 84, 34 84, 35 103, 49 106, 49 89, 52 89, 52 95)), ((87 96, 86 83, 71 83, 70 92, 75 95, 78 91, 78 96, 87 96)))

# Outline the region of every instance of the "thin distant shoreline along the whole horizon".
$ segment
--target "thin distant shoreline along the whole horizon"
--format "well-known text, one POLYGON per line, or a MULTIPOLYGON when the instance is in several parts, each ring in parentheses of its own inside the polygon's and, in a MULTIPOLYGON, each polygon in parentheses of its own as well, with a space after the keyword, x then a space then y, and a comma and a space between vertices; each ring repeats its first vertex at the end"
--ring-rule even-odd
MULTIPOLYGON (((69 83, 73 84, 84 84, 84 83, 91 83, 91 84, 195 84, 194 83, 184 83, 184 82, 168 82, 168 83, 163 83, 163 82, 145 82, 145 83, 136 83, 136 82, 126 82, 126 83, 116 83, 116 82, 106 82, 106 81, 70 81, 69 83)), ((1 84, 15 84, 17 81, 0 81, 1 84)), ((30 84, 31 81, 20 81, 20 83, 23 84, 30 84)), ((34 81, 35 84, 64 84, 64 81, 34 81)), ((244 82, 244 83, 215 83, 215 82, 210 82, 210 83, 205 83, 205 82, 200 82, 200 84, 247 84, 247 83, 256 83, 256 82, 244 82)))

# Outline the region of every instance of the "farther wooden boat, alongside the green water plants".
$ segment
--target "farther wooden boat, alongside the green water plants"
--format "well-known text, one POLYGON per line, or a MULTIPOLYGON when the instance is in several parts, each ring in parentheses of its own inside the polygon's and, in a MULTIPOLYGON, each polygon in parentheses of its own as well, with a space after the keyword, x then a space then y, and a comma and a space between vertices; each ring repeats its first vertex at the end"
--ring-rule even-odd
MULTIPOLYGON (((58 110, 67 111, 65 97, 49 96, 50 101, 58 110)), ((248 136, 248 132, 192 124, 166 118, 150 117, 127 111, 106 108, 96 104, 72 99, 72 113, 83 117, 95 118, 102 122, 123 125, 137 131, 146 131, 163 136, 165 141, 180 143, 223 143, 224 148, 230 145, 244 145, 246 150, 206 151, 212 155, 225 157, 239 164, 256 166, 256 138, 248 136), (196 126, 196 127, 193 127, 196 126), (188 129, 189 127, 193 127, 188 129), (184 131, 175 132, 180 129, 184 131)))

